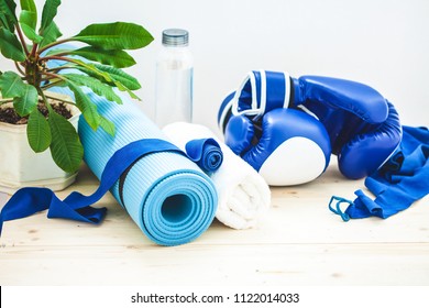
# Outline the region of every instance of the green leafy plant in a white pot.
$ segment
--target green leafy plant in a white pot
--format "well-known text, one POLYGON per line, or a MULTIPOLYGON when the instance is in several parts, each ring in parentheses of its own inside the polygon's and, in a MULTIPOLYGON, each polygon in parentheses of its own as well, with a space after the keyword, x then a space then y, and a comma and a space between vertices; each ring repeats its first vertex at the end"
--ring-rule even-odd
MULTIPOLYGON (((21 0, 20 12, 16 12, 13 0, 0 0, 0 51, 4 58, 14 62, 16 68, 15 72, 2 72, 0 67, 0 109, 15 113, 18 119, 18 123, 0 122, 0 125, 6 125, 9 134, 13 128, 24 125, 20 133, 26 140, 21 143, 28 147, 11 146, 8 142, 18 138, 2 139, 0 132, 0 186, 6 187, 3 190, 34 183, 50 186, 53 179, 57 182, 58 172, 63 173, 63 183, 53 184, 54 189, 65 188, 73 183, 84 156, 76 131, 79 116, 74 117, 70 112, 61 114, 58 110, 80 111, 80 118, 94 130, 101 127, 109 134, 114 134, 113 123, 97 112, 97 106, 81 87, 88 87, 112 103, 121 103, 114 88, 139 99, 133 92, 141 88, 139 81, 122 70, 135 64, 125 51, 146 46, 153 41, 152 35, 141 25, 113 22, 90 24, 74 36, 61 38, 63 34, 54 22, 59 6, 61 0, 46 0, 37 22, 34 0, 21 0), (78 47, 64 45, 69 42, 76 42, 78 47), (54 62, 56 64, 51 65, 54 62), (68 88, 74 95, 74 101, 64 96, 54 97, 48 92, 52 87, 68 88), (24 157, 22 155, 25 152, 42 154, 24 157), (31 177, 21 180, 21 175, 31 172, 31 166, 38 166, 35 160, 42 156, 46 156, 57 168, 53 175, 38 182, 31 177), (19 161, 14 162, 15 158, 19 161), (2 162, 6 166, 1 166, 2 162), (13 170, 25 164, 24 170, 13 170), (12 180, 4 179, 9 176, 8 168, 18 173, 12 180)), ((48 173, 37 172, 43 176, 48 173)))

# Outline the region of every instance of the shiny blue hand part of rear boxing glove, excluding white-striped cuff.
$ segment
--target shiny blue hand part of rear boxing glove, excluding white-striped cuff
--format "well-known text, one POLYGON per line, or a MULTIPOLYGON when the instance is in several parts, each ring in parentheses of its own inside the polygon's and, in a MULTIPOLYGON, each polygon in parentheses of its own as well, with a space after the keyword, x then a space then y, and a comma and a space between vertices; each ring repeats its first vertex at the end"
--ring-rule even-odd
POLYGON ((289 107, 304 108, 323 123, 344 176, 371 175, 399 145, 398 113, 373 88, 329 77, 304 76, 292 80, 295 91, 289 107))

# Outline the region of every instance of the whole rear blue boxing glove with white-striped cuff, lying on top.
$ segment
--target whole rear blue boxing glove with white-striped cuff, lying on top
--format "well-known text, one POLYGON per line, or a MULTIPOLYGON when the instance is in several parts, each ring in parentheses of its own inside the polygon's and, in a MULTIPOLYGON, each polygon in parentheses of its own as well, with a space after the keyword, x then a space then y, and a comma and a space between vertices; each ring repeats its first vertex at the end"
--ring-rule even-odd
POLYGON ((373 88, 355 81, 279 72, 251 72, 222 103, 218 122, 232 114, 258 119, 278 108, 300 109, 326 128, 341 173, 362 178, 383 165, 402 140, 394 106, 373 88))

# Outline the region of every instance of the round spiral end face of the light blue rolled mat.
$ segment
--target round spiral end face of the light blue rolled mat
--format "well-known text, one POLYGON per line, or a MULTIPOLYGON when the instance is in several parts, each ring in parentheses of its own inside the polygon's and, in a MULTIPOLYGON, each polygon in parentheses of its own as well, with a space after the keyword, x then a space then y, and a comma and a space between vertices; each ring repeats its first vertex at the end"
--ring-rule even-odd
POLYGON ((176 245, 191 242, 210 226, 217 198, 210 182, 194 173, 172 174, 147 195, 140 223, 154 242, 176 245))

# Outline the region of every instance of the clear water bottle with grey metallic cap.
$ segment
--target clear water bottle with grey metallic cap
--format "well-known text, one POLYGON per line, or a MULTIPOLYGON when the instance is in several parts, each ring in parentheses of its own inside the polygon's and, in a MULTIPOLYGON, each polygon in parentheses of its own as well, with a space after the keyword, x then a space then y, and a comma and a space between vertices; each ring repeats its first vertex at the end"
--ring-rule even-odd
POLYGON ((163 31, 155 92, 155 122, 160 128, 176 121, 193 121, 194 59, 188 43, 186 30, 163 31))

